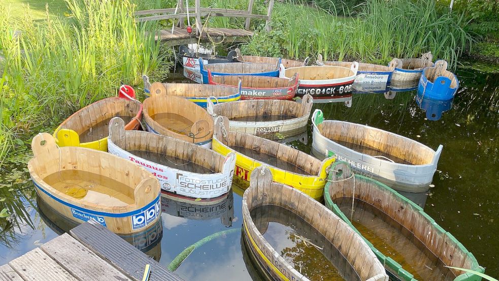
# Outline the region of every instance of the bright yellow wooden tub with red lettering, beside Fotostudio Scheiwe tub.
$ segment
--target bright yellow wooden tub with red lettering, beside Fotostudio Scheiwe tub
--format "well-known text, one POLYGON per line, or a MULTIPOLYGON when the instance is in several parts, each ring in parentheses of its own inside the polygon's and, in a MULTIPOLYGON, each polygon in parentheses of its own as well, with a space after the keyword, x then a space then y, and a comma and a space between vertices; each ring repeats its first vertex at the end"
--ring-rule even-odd
POLYGON ((215 119, 213 150, 222 155, 236 153, 236 176, 249 182, 250 173, 261 165, 269 166, 273 179, 298 189, 316 200, 322 200, 326 168, 334 157, 322 162, 282 143, 244 133, 229 132, 227 117, 215 119))

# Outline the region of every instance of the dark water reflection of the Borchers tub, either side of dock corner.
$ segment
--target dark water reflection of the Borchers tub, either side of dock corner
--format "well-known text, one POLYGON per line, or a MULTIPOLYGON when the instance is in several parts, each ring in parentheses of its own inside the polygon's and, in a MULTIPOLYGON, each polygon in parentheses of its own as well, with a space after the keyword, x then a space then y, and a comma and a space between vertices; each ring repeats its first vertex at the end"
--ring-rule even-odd
MULTIPOLYGON (((58 213, 43 200, 37 198, 37 204, 40 211, 40 216, 43 222, 57 235, 69 233, 71 229, 79 224, 69 220, 62 214, 58 213)), ((134 235, 120 235, 126 242, 134 245, 146 255, 159 261, 161 258, 161 238, 163 236, 163 227, 161 220, 154 225, 148 227, 142 232, 134 235)))

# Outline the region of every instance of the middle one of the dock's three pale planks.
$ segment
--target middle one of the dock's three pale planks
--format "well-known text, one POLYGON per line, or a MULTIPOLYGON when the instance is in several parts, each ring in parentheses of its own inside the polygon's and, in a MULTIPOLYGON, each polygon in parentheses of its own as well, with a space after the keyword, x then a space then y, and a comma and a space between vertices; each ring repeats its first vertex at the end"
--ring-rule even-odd
POLYGON ((9 265, 25 281, 77 281, 40 248, 29 251, 9 265))

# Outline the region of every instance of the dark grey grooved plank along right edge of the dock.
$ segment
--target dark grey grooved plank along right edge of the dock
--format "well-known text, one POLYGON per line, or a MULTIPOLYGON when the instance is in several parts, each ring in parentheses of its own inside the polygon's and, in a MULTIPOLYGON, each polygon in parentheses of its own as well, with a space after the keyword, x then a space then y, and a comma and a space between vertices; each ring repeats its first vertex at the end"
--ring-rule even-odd
POLYGON ((145 266, 150 264, 149 281, 182 280, 178 275, 168 271, 154 259, 93 220, 75 227, 70 233, 97 256, 131 278, 142 280, 145 266))

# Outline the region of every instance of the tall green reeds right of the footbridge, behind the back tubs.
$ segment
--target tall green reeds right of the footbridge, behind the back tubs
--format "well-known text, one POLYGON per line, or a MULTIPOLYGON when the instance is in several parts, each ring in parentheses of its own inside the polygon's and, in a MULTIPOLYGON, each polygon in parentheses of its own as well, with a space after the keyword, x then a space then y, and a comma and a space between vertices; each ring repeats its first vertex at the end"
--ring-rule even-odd
MULTIPOLYGON (((260 54, 276 42, 286 57, 322 53, 326 59, 360 59, 385 64, 392 57, 431 51, 452 67, 472 43, 463 16, 440 14, 435 0, 369 0, 355 17, 337 17, 311 6, 276 3, 270 34, 258 30, 243 51, 260 54), (283 34, 283 36, 279 36, 283 34)), ((273 50, 275 52, 275 50, 273 50)))

